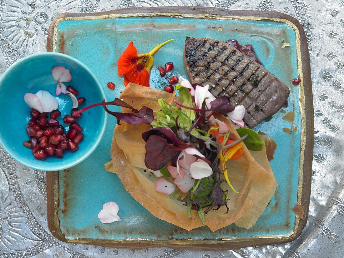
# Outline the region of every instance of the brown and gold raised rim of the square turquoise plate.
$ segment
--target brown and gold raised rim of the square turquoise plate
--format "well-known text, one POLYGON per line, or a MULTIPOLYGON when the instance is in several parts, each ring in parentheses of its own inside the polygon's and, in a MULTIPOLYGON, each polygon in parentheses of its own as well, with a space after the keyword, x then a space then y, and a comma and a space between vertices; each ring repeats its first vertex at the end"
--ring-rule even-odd
POLYGON ((302 117, 300 169, 297 203, 304 207, 304 218, 300 220, 295 215, 292 231, 287 235, 256 236, 247 238, 222 239, 182 239, 182 240, 147 240, 147 239, 89 239, 64 237, 58 218, 59 205, 59 172, 47 172, 47 215, 48 227, 53 236, 67 243, 82 243, 117 248, 142 249, 149 247, 171 247, 187 250, 225 250, 248 246, 279 244, 293 241, 300 236, 307 224, 309 201, 311 193, 311 171, 313 160, 313 97, 311 84, 311 68, 307 39, 301 24, 292 16, 279 12, 225 10, 209 7, 152 7, 152 8, 125 8, 103 13, 63 13, 55 18, 49 27, 47 51, 55 51, 56 29, 59 21, 80 19, 107 19, 114 16, 172 16, 180 18, 203 19, 237 19, 284 22, 293 27, 296 35, 298 72, 301 79, 299 85, 300 111, 302 117))

